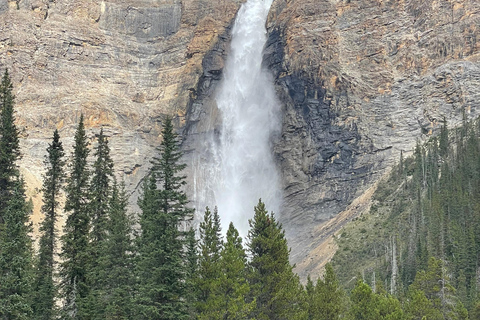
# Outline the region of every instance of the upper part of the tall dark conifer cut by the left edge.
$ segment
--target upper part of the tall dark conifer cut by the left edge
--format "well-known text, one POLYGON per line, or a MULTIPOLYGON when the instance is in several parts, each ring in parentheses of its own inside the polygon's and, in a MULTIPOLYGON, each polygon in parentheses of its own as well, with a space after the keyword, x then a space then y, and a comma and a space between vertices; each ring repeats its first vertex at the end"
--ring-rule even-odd
POLYGON ((13 84, 8 70, 0 84, 0 224, 4 223, 7 203, 18 191, 20 176, 16 161, 20 158, 18 129, 15 125, 13 84))

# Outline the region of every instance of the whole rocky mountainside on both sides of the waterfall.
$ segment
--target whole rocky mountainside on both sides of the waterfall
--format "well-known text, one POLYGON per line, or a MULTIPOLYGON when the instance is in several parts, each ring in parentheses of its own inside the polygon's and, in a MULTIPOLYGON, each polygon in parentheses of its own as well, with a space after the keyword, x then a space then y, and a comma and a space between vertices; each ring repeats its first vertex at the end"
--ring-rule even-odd
MULTIPOLYGON (((213 93, 241 2, 0 0, 0 68, 13 76, 32 192, 52 130, 68 150, 80 113, 89 132, 105 127, 130 191, 162 114, 177 116, 191 155, 215 129, 213 93)), ((303 275, 358 210, 338 214, 367 202, 401 150, 444 116, 455 125, 463 110, 478 113, 479 25, 476 0, 274 1, 264 63, 283 105, 280 220, 303 275), (345 218, 329 225, 334 217, 345 218)))

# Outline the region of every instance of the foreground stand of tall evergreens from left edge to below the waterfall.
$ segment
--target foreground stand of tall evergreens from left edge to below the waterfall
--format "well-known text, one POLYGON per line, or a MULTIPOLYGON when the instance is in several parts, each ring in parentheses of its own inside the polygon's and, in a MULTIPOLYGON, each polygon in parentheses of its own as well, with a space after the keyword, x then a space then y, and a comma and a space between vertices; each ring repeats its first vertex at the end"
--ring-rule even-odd
MULTIPOLYGON (((8 72, 0 86, 0 319, 306 319, 282 226, 259 201, 246 242, 217 210, 193 230, 171 118, 144 179, 140 212, 114 173, 103 129, 80 117, 70 157, 47 148, 39 249, 31 239, 8 72), (62 196, 65 195, 63 203, 62 196), (59 214, 66 221, 60 230, 59 214)), ((252 208, 253 209, 253 208, 252 208)))

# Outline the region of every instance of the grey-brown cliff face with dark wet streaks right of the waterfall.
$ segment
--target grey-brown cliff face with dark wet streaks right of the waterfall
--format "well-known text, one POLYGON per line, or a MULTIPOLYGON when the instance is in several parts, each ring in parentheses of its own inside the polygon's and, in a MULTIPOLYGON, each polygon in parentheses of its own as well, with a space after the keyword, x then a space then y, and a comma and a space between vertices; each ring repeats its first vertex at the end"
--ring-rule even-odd
POLYGON ((443 117, 479 113, 479 26, 475 0, 275 0, 265 64, 284 102, 275 152, 301 273, 318 270, 319 248, 345 219, 327 221, 401 150, 443 117))

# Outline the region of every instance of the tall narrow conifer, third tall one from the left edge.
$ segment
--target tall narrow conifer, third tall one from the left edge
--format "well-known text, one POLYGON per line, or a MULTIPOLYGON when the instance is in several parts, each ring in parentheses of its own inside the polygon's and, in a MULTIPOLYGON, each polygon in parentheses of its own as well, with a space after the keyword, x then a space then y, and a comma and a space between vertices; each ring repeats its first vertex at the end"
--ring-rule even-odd
POLYGON ((65 212, 68 213, 62 236, 61 289, 64 300, 63 318, 85 319, 88 296, 87 270, 90 264, 89 243, 89 170, 88 141, 80 117, 67 179, 65 212))

